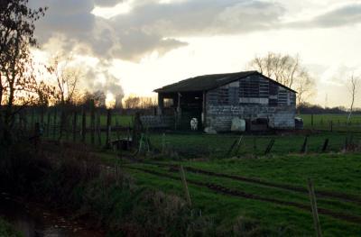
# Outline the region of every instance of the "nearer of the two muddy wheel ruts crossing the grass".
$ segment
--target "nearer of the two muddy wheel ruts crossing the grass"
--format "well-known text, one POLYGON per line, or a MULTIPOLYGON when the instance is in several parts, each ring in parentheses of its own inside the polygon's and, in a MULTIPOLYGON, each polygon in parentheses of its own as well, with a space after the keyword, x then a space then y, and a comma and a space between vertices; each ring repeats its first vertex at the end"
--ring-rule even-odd
MULTIPOLYGON (((126 169, 134 169, 134 170, 142 171, 144 173, 152 174, 154 176, 158 176, 158 177, 162 177, 162 178, 171 178, 173 180, 180 180, 179 177, 175 177, 175 176, 172 176, 170 174, 165 174, 165 173, 150 170, 150 169, 134 168, 134 167, 131 167, 131 166, 125 166, 125 168, 126 169)), ((231 188, 228 188, 228 187, 219 186, 217 184, 212 184, 212 183, 208 183, 208 182, 201 182, 201 181, 196 181, 196 180, 192 180, 192 179, 187 179, 187 182, 189 184, 199 186, 199 187, 208 187, 208 189, 210 189, 210 190, 212 190, 212 191, 214 191, 214 192, 216 192, 218 194, 222 194, 222 195, 237 196, 237 197, 242 197, 242 198, 246 198, 246 199, 258 200, 258 201, 263 201, 263 202, 267 202, 267 203, 273 203, 273 204, 276 204, 276 205, 291 206, 291 207, 295 207, 295 208, 298 208, 298 209, 301 209, 301 210, 304 210, 304 211, 311 212, 310 205, 305 205, 305 204, 296 203, 296 202, 292 202, 292 201, 284 201, 284 200, 280 200, 280 199, 276 199, 276 198, 272 198, 272 197, 258 196, 258 195, 246 193, 246 192, 243 192, 243 191, 231 189, 231 188)), ((326 209, 326 208, 318 208, 318 210, 319 210, 319 214, 328 215, 330 217, 336 218, 338 220, 346 221, 348 223, 361 224, 361 216, 358 216, 358 215, 340 213, 340 212, 332 211, 332 210, 329 210, 329 209, 326 209)))

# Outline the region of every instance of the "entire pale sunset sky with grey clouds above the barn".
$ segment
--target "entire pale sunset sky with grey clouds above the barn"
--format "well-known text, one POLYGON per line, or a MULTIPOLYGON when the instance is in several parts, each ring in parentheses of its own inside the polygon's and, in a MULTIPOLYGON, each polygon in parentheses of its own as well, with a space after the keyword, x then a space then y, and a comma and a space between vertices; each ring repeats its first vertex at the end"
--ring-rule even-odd
POLYGON ((81 87, 115 96, 154 96, 188 77, 246 70, 270 51, 301 57, 316 80, 310 103, 349 106, 347 80, 361 76, 361 0, 29 3, 49 7, 36 23, 37 57, 71 54, 87 73, 81 87))

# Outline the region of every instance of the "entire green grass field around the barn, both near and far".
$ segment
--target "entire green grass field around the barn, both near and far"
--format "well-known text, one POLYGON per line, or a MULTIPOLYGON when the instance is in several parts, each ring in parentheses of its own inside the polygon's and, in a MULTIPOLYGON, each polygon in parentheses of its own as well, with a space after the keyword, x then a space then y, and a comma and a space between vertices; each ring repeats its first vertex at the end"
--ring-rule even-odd
MULTIPOLYGON (((143 160, 146 162, 116 160, 117 152, 109 150, 99 150, 97 155, 109 165, 121 164, 140 186, 179 196, 184 196, 177 169, 182 164, 195 210, 201 210, 202 214, 225 228, 234 228, 236 220, 259 222, 264 228, 272 229, 276 236, 313 235, 306 188, 307 179, 311 178, 316 189, 323 235, 359 236, 361 154, 359 151, 343 153, 342 150, 350 137, 360 145, 361 133, 343 126, 345 115, 314 115, 313 127, 310 126, 310 115, 303 115, 303 118, 306 129, 324 131, 275 135, 150 132, 153 153, 151 158, 148 156, 148 160, 143 160), (329 121, 337 124, 333 132, 329 132, 329 121), (301 154, 306 134, 309 134, 307 152, 301 154), (229 152, 232 144, 241 137, 239 147, 229 152), (273 149, 264 155, 273 139, 273 149), (326 139, 329 139, 329 147, 321 153, 326 139), (165 152, 161 154, 162 150, 165 152)), ((358 118, 361 119, 354 116, 353 126, 359 126, 358 118)), ((106 124, 105 116, 101 120, 106 124)), ((119 116, 113 119, 113 124, 116 120, 118 124, 128 126, 132 117, 119 116)), ((105 135, 106 132, 101 133, 103 145, 105 135)), ((126 135, 125 132, 111 134, 112 139, 126 135)), ((87 143, 90 143, 89 132, 87 143)), ((123 155, 130 157, 131 153, 123 152, 123 155)))

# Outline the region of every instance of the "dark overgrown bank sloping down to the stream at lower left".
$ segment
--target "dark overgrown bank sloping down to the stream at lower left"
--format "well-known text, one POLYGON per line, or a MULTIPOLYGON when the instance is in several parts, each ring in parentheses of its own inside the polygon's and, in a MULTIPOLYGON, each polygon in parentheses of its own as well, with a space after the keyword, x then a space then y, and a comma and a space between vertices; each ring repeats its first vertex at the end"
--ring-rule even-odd
POLYGON ((139 186, 124 169, 105 167, 87 147, 47 143, 38 152, 20 147, 9 151, 11 160, 0 160, 0 187, 61 208, 74 220, 106 229, 107 236, 278 235, 242 216, 215 222, 177 194, 139 186))

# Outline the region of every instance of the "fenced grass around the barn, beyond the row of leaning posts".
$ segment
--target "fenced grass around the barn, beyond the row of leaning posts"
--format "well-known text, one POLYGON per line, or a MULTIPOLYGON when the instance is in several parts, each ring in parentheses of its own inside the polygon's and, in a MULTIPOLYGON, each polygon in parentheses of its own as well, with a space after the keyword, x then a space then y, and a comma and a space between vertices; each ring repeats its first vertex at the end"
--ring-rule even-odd
MULTIPOLYGON (((59 114, 58 114, 59 115, 59 114)), ((314 114, 313 126, 311 125, 311 115, 303 114, 301 117, 304 119, 305 129, 314 129, 324 132, 313 132, 308 138, 308 152, 320 152, 322 145, 326 139, 329 139, 329 146, 327 151, 338 152, 345 146, 345 142, 349 139, 351 133, 354 142, 361 141, 361 115, 354 115, 351 120, 351 125, 347 125, 346 114, 314 114), (330 122, 332 121, 332 132, 330 122), (358 133, 360 132, 360 133, 358 133)), ((34 121, 40 121, 39 116, 34 118, 34 121)), ((47 123, 47 117, 44 118, 47 123)), ((49 131, 50 138, 57 138, 59 134, 59 121, 57 118, 57 127, 55 129, 53 124, 53 116, 51 116, 51 126, 49 131)), ((70 127, 68 127, 68 135, 64 134, 63 139, 72 141, 72 119, 69 119, 70 127)), ((87 124, 89 126, 90 117, 87 116, 87 124)), ((133 124, 132 115, 113 114, 112 126, 120 125, 123 127, 129 127, 133 124)), ((106 114, 101 114, 101 125, 103 128, 106 126, 106 114)), ((77 141, 80 141, 80 128, 81 117, 78 116, 77 123, 77 141)), ((48 135, 47 126, 45 124, 44 135, 48 135)), ((106 132, 101 132, 102 144, 106 141, 106 132)), ((111 140, 117 138, 127 137, 126 132, 112 132, 111 140)), ((162 132, 151 132, 150 141, 153 149, 155 150, 173 150, 176 151, 180 157, 194 158, 194 157, 210 157, 210 158, 226 158, 239 155, 263 155, 270 141, 274 139, 274 145, 271 150, 271 154, 289 154, 299 153, 301 146, 305 140, 305 134, 302 132, 296 132, 295 134, 283 134, 283 135, 245 135, 242 137, 242 141, 239 146, 232 152, 230 150, 232 144, 240 139, 240 134, 226 133, 226 134, 202 134, 199 132, 165 132, 164 136, 162 132)), ((97 134, 95 143, 97 144, 97 134)), ((86 142, 90 143, 90 132, 87 132, 86 142)))

